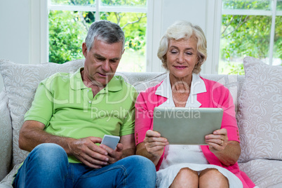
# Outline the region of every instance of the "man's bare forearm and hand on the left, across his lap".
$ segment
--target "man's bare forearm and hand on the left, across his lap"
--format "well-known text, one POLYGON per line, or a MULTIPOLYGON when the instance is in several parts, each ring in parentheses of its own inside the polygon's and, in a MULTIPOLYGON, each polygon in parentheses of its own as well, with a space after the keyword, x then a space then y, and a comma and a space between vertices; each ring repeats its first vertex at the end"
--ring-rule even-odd
POLYGON ((98 147, 100 137, 85 137, 74 139, 71 137, 60 137, 46 133, 45 125, 39 121, 25 121, 20 129, 19 146, 29 152, 42 143, 54 143, 60 145, 69 156, 75 156, 82 163, 91 168, 101 168, 109 161, 105 149, 98 147))

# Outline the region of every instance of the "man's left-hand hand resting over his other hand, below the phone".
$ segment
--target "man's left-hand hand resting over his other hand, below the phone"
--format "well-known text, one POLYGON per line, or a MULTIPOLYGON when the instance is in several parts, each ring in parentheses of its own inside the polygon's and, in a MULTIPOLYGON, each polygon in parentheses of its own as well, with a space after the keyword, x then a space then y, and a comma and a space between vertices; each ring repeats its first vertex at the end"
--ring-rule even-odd
POLYGON ((69 152, 86 166, 102 168, 102 166, 108 164, 110 158, 106 149, 95 145, 95 143, 101 142, 102 138, 100 137, 85 137, 72 140, 69 143, 69 152))

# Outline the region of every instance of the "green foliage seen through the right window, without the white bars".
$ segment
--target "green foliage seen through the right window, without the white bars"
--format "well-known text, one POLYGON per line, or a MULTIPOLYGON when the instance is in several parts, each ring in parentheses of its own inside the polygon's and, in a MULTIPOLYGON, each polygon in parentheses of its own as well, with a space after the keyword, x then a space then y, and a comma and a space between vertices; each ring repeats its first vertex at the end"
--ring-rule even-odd
MULTIPOLYGON (((271 10, 271 5, 269 1, 224 1, 223 8, 225 10, 271 10)), ((220 72, 244 74, 242 58, 247 55, 267 61, 271 19, 271 16, 267 15, 222 15, 220 59, 224 65, 220 66, 220 72)), ((282 60, 281 16, 276 16, 275 26, 273 58, 282 60)))

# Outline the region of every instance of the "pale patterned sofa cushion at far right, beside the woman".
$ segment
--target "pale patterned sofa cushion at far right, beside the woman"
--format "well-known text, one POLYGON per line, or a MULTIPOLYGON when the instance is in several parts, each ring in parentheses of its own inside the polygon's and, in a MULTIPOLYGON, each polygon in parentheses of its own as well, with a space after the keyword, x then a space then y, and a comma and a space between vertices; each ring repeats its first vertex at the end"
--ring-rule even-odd
POLYGON ((243 60, 246 80, 239 98, 240 162, 282 159, 282 67, 243 60))

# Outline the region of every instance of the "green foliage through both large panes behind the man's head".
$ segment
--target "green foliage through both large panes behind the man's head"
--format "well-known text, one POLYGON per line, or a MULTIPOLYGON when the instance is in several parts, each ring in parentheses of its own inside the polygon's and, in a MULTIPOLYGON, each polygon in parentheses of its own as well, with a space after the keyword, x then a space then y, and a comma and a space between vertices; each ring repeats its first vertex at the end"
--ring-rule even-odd
MULTIPOLYGON (((126 49, 145 55, 145 13, 100 13, 100 19, 117 22, 126 36, 126 49)), ((81 45, 95 21, 93 12, 50 11, 49 61, 64 63, 83 58, 81 45)))

